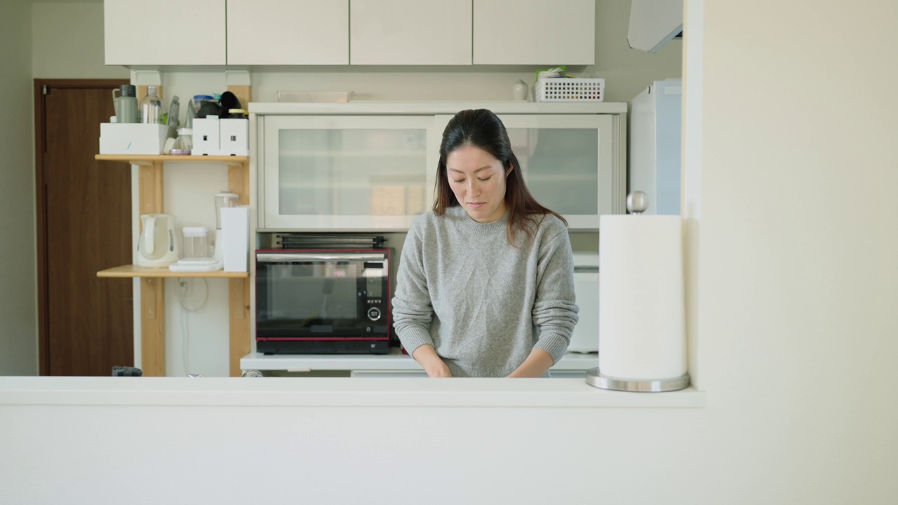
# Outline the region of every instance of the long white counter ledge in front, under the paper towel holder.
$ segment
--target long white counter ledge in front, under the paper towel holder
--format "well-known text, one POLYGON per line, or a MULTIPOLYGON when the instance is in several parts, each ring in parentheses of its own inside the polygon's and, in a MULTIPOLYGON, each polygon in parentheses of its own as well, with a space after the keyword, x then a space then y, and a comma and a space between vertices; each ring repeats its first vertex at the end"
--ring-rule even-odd
POLYGON ((0 377, 15 405, 700 408, 695 389, 621 393, 583 379, 0 377))

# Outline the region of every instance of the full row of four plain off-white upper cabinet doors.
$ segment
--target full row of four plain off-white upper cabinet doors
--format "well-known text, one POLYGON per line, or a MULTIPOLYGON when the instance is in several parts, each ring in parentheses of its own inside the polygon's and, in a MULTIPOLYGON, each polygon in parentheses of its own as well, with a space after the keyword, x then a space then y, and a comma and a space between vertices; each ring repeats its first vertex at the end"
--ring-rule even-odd
POLYGON ((106 65, 595 62, 595 0, 105 0, 103 9, 106 65))

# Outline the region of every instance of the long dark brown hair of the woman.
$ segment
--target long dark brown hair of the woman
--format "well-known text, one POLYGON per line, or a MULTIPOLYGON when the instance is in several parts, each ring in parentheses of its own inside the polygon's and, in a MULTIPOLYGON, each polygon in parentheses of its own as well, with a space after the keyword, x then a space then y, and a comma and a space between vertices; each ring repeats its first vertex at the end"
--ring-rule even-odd
POLYGON ((528 238, 533 237, 533 230, 540 226, 546 214, 561 219, 566 226, 568 221, 557 212, 542 207, 524 184, 521 164, 511 149, 511 141, 502 120, 486 109, 461 111, 449 120, 443 130, 443 142, 440 144, 440 161, 436 164, 436 201, 434 214, 443 216, 446 208, 460 205, 455 199, 446 173, 446 156, 460 147, 477 147, 489 153, 502 163, 506 175, 506 212, 508 213, 508 243, 515 245, 515 228, 523 231, 528 238), (509 169, 512 169, 509 172, 509 169), (533 226, 528 226, 531 224, 533 226))

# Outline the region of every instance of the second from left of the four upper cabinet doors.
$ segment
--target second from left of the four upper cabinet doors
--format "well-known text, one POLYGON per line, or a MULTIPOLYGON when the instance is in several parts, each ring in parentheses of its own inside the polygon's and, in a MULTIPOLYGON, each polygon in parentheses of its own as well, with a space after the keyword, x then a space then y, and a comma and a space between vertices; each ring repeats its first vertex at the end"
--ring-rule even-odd
POLYGON ((227 0, 229 65, 348 65, 349 0, 227 0))

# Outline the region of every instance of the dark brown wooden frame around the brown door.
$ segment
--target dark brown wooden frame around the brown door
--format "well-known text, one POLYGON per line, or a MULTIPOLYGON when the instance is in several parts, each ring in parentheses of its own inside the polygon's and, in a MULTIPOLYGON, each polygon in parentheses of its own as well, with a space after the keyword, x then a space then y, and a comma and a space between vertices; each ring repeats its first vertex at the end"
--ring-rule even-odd
POLYGON ((128 79, 34 79, 34 181, 35 181, 35 235, 37 235, 38 261, 38 363, 39 373, 49 373, 49 281, 47 252, 47 195, 44 190, 47 167, 46 151, 46 104, 44 86, 48 88, 83 89, 131 84, 128 79))

